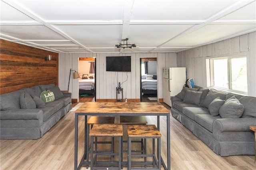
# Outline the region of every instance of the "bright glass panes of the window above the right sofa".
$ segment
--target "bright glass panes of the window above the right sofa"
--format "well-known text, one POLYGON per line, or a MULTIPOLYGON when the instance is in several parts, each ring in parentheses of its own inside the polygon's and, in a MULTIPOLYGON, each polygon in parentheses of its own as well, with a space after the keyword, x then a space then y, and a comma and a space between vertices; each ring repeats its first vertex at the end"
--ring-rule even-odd
POLYGON ((210 59, 211 86, 247 94, 246 56, 210 59))

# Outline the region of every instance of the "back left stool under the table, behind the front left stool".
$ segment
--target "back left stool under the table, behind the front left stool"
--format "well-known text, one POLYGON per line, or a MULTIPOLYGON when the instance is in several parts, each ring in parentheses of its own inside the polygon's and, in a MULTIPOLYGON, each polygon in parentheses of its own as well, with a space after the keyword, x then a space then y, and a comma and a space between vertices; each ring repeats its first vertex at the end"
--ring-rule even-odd
MULTIPOLYGON (((115 121, 115 117, 113 116, 91 116, 89 118, 89 120, 87 121, 87 146, 86 146, 86 168, 88 169, 88 162, 89 162, 89 152, 90 152, 90 144, 89 144, 89 133, 90 133, 90 129, 93 127, 93 125, 95 124, 114 124, 115 121), (90 127, 91 126, 91 127, 90 127)), ((98 142, 98 144, 111 144, 111 148, 112 148, 112 153, 114 153, 114 137, 112 137, 111 141, 104 141, 104 142, 98 142)), ((101 151, 104 152, 104 151, 101 151)))

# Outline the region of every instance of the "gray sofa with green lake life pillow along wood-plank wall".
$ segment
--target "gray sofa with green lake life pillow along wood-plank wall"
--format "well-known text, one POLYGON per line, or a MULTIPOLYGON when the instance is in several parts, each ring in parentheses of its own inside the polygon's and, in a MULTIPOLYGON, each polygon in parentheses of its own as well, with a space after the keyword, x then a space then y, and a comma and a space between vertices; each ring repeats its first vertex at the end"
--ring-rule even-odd
POLYGON ((38 85, 0 95, 0 138, 42 137, 72 109, 71 93, 58 86, 38 85))

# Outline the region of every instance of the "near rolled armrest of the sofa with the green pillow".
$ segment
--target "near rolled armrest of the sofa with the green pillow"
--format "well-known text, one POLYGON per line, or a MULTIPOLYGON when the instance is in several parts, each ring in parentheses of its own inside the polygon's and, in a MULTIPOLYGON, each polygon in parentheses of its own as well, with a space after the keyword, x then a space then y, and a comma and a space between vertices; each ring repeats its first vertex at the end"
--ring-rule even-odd
POLYGON ((43 111, 39 109, 10 109, 0 112, 2 120, 29 120, 38 119, 43 122, 43 111))

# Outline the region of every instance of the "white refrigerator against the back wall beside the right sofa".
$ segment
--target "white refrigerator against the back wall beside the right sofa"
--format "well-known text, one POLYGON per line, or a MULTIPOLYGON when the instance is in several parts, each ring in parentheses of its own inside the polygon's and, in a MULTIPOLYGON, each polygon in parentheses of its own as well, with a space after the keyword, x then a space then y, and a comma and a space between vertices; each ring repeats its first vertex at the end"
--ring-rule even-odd
POLYGON ((180 93, 186 83, 186 67, 166 67, 162 73, 164 103, 172 107, 170 97, 180 93))

